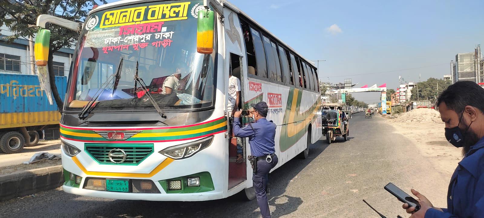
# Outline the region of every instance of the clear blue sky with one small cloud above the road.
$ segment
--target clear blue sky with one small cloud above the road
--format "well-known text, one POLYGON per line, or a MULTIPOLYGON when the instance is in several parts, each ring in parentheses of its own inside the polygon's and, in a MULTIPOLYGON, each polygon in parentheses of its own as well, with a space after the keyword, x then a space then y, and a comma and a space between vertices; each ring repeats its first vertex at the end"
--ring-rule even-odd
MULTIPOLYGON (((399 75, 407 82, 418 82, 419 74, 442 78, 455 54, 481 43, 484 49, 483 0, 231 2, 306 58, 327 60, 319 62, 321 81, 352 78, 395 89, 399 75), (402 70, 408 68, 419 69, 402 70), (387 71, 395 72, 347 76, 387 71)), ((378 101, 378 93, 353 95, 378 101)))

